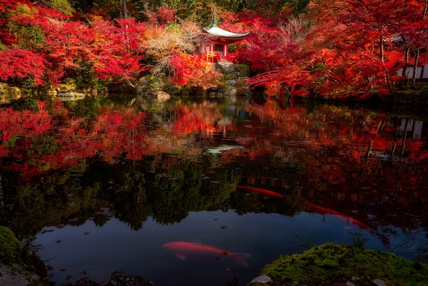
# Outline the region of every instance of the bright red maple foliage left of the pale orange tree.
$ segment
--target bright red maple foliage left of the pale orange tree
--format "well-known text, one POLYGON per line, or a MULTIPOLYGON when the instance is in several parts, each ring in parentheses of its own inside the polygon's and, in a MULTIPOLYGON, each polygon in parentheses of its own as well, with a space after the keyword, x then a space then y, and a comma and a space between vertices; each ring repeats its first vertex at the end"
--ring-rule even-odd
POLYGON ((135 18, 94 18, 84 23, 29 1, 0 3, 0 12, 8 16, 0 18, 5 50, 0 64, 13 67, 2 70, 4 81, 14 77, 33 77, 36 85, 58 83, 64 77, 130 81, 144 70, 146 29, 135 18))

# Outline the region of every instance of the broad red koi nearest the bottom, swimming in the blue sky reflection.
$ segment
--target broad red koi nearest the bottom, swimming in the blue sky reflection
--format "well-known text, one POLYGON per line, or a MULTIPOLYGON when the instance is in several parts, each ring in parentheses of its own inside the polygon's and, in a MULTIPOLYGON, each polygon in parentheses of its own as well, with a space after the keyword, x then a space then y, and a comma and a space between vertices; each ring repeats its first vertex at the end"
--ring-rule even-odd
POLYGON ((248 267, 248 263, 244 259, 251 257, 251 255, 247 253, 228 252, 214 246, 193 244, 191 242, 168 242, 168 244, 163 244, 163 249, 174 252, 179 259, 190 258, 203 260, 206 257, 212 257, 214 259, 224 257, 235 261, 235 263, 243 267, 248 267))

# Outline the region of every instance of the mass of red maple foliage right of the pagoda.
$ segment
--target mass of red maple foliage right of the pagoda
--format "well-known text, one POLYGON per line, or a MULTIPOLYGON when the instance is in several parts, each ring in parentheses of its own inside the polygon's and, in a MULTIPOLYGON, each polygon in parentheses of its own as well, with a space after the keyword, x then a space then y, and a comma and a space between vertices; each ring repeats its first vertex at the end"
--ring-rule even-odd
POLYGON ((397 71, 427 46, 426 9, 425 1, 315 0, 307 14, 245 12, 222 27, 252 31, 241 60, 260 72, 283 70, 273 85, 286 83, 301 95, 366 97, 388 94, 397 71))

